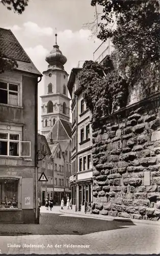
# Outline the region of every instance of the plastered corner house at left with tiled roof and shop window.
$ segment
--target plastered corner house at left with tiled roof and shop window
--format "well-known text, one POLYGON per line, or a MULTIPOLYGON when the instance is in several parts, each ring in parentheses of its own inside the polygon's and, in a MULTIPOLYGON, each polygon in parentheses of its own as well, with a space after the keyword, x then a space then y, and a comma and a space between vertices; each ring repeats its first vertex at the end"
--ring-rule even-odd
POLYGON ((38 77, 11 30, 0 29, 1 52, 18 68, 0 74, 0 222, 36 223, 38 77))

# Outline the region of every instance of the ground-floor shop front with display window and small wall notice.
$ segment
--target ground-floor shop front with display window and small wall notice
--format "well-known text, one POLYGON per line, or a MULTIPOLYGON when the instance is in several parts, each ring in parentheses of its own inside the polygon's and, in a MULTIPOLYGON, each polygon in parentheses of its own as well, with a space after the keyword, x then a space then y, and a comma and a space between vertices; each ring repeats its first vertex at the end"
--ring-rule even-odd
POLYGON ((0 223, 35 223, 32 178, 0 176, 0 223))

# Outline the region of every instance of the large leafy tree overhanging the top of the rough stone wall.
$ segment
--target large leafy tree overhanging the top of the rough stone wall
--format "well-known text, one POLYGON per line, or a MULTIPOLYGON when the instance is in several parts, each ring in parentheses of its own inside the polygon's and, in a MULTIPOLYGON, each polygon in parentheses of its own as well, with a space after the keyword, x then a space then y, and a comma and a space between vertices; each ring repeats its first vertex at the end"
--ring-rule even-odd
POLYGON ((130 84, 139 81, 145 91, 151 86, 149 80, 155 87, 155 81, 159 83, 155 77, 160 57, 159 0, 92 0, 91 5, 103 8, 97 37, 111 38, 122 76, 130 84))

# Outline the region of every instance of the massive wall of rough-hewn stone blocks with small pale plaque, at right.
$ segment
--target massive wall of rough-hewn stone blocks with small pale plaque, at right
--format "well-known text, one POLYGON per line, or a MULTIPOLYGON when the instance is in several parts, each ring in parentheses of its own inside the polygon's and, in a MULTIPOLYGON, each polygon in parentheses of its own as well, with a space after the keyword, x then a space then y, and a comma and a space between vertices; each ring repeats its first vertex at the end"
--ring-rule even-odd
POLYGON ((94 214, 160 216, 160 96, 103 117, 93 129, 94 214))

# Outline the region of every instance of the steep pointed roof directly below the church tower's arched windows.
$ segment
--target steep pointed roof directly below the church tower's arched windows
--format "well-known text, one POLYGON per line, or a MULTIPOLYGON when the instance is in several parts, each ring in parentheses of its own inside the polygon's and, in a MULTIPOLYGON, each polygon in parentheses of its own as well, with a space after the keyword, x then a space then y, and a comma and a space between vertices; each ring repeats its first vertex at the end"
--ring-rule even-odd
POLYGON ((57 119, 51 131, 47 135, 47 141, 50 144, 50 139, 53 142, 66 141, 71 139, 71 123, 63 119, 57 119))

